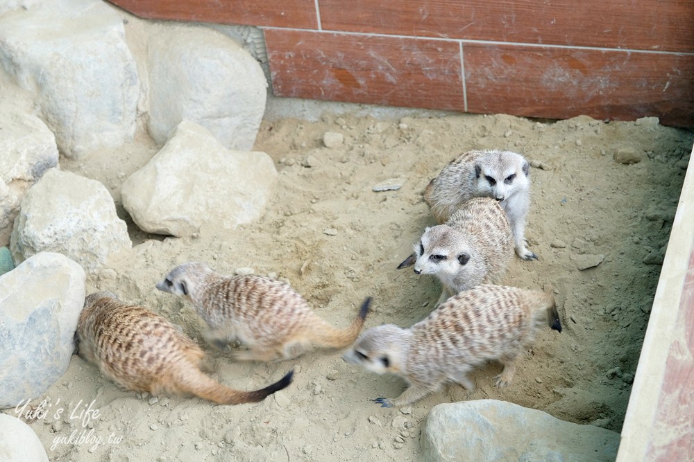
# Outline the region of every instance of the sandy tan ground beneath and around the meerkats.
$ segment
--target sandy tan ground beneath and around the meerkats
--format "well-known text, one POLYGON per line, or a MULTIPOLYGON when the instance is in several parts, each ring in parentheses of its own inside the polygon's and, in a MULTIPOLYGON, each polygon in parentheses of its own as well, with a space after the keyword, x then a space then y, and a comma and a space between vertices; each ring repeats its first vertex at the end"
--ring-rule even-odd
MULTIPOLYGON (((130 222, 133 251, 90 275, 87 290, 110 290, 149 307, 202 343, 203 325, 189 303, 154 288, 174 265, 199 260, 225 274, 252 267, 287 278, 335 326, 347 326, 366 296, 373 296, 367 328, 410 326, 432 310, 440 292, 433 278, 396 269, 433 224, 424 187, 460 152, 516 150, 534 167, 526 236, 539 261, 516 258, 504 282, 554 287, 565 329, 540 333, 506 389, 492 387, 499 364, 475 371, 469 399, 507 400, 618 432, 693 141, 691 132, 655 119, 347 114, 265 121, 255 148, 273 158, 280 180, 260 221, 233 230, 212 223, 197 238, 151 236, 130 222), (325 132, 344 134, 344 144, 325 148, 325 132), (643 161, 617 163, 613 154, 620 149, 643 161), (373 192, 389 179, 403 187, 373 192), (604 260, 579 270, 581 255, 604 260)), ((102 181, 129 220, 119 186, 155 152, 139 136, 81 164, 61 158, 60 166, 102 181)), ((431 407, 468 398, 451 385, 411 407, 382 409, 371 400, 398 396, 403 380, 348 365, 339 352, 238 364, 204 348, 212 375, 231 387, 264 387, 291 368, 294 383, 257 405, 217 406, 121 391, 74 357, 46 393, 49 412, 31 427, 56 461, 403 461, 421 455, 420 429, 431 407)))

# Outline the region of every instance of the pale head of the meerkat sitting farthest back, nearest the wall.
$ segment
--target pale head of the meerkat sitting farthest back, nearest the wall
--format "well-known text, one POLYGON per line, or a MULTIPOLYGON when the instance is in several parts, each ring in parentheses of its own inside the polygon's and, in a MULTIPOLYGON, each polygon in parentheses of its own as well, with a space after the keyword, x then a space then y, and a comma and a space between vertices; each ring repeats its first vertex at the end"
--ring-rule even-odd
POLYGON ((516 152, 489 151, 475 163, 476 195, 505 200, 529 186, 530 165, 516 152))

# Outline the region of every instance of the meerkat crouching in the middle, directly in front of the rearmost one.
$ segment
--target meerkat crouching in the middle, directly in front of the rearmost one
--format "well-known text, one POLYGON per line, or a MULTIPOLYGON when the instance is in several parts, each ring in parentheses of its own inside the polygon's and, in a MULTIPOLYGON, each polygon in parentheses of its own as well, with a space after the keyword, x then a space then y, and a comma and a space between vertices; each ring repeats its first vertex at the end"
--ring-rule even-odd
POLYGON ((414 264, 416 274, 433 274, 443 290, 437 306, 475 285, 499 283, 514 255, 506 213, 496 200, 475 197, 445 224, 425 229, 414 253, 398 269, 414 264))

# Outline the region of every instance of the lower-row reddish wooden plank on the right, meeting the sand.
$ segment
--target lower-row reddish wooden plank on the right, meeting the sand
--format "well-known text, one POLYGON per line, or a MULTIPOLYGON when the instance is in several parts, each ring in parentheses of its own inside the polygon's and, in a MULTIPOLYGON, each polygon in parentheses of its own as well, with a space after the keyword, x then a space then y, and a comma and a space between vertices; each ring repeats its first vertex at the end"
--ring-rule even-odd
POLYGON ((694 55, 464 44, 468 110, 694 127, 694 55))

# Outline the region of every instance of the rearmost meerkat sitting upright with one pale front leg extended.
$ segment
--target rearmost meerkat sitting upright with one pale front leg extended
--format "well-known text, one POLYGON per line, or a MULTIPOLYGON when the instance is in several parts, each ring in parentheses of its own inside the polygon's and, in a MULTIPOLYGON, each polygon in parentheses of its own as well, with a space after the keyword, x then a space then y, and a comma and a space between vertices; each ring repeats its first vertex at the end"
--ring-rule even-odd
POLYGON ((530 164, 517 152, 470 151, 460 154, 432 179, 424 191, 438 223, 448 220, 472 197, 491 197, 509 216, 516 254, 537 260, 525 247, 525 220, 530 208, 530 164))

